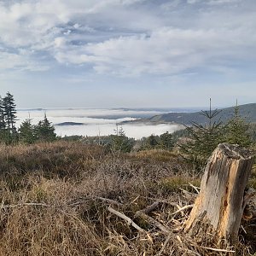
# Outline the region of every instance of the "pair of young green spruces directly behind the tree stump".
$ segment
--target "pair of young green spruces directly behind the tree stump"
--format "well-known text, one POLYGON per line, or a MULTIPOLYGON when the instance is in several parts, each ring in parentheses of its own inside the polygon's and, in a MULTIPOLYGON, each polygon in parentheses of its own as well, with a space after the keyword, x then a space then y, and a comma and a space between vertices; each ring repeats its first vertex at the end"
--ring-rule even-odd
MULTIPOLYGON (((245 119, 241 118, 239 108, 236 106, 232 119, 223 125, 220 119, 216 121, 219 111, 203 111, 201 114, 207 119, 206 125, 193 123, 187 127, 189 137, 186 143, 180 144, 184 157, 195 165, 195 169, 200 169, 218 146, 218 143, 239 144, 241 147, 252 145, 252 135, 248 133, 249 125, 245 119), (214 121, 212 121, 214 119, 214 121)), ((251 133, 255 134, 255 131, 251 133)))

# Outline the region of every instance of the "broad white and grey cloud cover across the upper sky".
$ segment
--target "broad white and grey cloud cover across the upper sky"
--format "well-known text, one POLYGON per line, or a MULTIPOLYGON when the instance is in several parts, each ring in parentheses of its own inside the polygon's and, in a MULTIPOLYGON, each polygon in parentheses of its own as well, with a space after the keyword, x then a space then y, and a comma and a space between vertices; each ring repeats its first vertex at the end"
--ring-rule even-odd
POLYGON ((59 64, 86 64, 96 73, 137 76, 253 59, 255 3, 244 0, 239 9, 231 3, 241 0, 0 3, 0 58, 6 60, 0 68, 45 70, 50 64, 38 58, 44 55, 59 64), (223 9, 227 3, 230 8, 223 9))

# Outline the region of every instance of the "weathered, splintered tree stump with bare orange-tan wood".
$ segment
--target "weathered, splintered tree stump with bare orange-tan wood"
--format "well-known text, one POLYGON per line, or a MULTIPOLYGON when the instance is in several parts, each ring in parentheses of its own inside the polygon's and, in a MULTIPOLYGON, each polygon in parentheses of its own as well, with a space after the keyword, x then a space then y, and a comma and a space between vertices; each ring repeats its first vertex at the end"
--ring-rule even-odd
POLYGON ((245 189, 252 166, 253 155, 248 150, 219 144, 208 160, 200 194, 184 223, 184 231, 198 238, 210 233, 218 244, 234 244, 246 206, 245 189))

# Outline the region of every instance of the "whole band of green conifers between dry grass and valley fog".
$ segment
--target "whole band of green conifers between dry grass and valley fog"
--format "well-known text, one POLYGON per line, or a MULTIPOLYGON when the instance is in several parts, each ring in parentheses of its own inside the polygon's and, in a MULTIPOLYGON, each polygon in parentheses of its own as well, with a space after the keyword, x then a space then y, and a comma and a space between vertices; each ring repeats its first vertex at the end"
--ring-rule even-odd
MULTIPOLYGON (((241 118, 237 105, 233 117, 225 124, 221 119, 216 121, 219 113, 217 109, 212 111, 210 104, 209 111, 201 112, 206 119, 205 125, 194 122, 184 130, 172 134, 166 131, 160 136, 152 134, 137 141, 126 137, 121 125, 117 125, 114 133, 107 137, 85 137, 82 140, 84 143, 100 144, 113 152, 123 153, 131 150, 176 148, 186 160, 195 165, 195 169, 200 169, 218 143, 239 144, 247 148, 256 143, 256 125, 249 125, 246 119, 241 118)), ((16 120, 15 99, 8 92, 6 96, 0 96, 0 142, 31 144, 55 141, 55 127, 49 122, 46 114, 37 125, 32 125, 32 119, 25 119, 18 129, 15 126, 16 120)))

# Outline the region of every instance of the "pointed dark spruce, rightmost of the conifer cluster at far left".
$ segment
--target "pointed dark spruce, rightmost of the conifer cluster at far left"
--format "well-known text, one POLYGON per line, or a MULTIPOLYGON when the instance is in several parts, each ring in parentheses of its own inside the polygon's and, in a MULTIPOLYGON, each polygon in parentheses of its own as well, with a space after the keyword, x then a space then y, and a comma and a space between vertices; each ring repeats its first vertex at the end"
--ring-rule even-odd
POLYGON ((34 131, 38 141, 53 142, 56 139, 55 127, 51 125, 46 114, 44 114, 44 120, 39 121, 35 126, 34 131))

